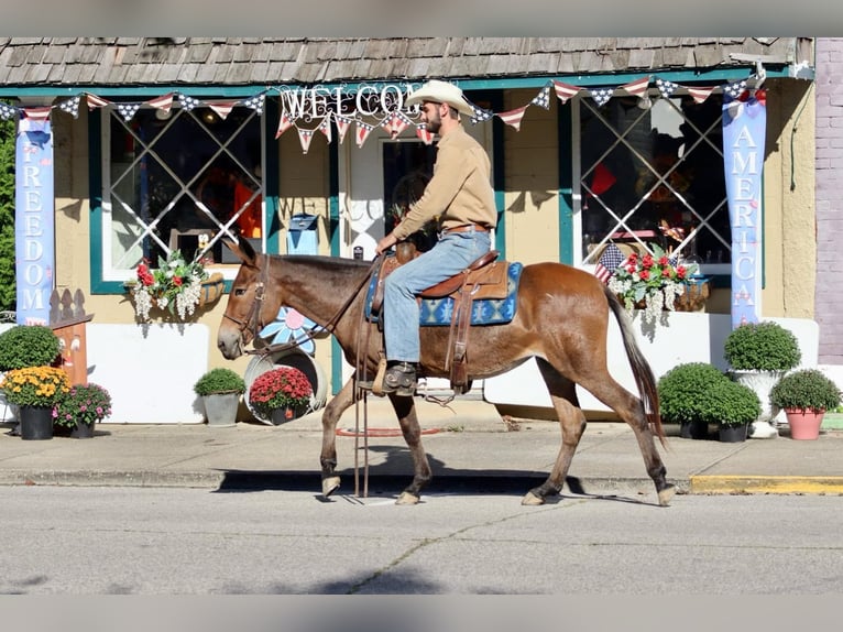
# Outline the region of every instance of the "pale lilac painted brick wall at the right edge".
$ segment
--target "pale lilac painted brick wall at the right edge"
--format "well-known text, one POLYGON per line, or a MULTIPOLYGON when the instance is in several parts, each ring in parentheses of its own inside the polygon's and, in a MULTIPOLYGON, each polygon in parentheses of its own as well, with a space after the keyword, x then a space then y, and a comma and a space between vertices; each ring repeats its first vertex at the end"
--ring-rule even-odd
POLYGON ((815 68, 819 361, 843 364, 843 37, 817 39, 815 68))

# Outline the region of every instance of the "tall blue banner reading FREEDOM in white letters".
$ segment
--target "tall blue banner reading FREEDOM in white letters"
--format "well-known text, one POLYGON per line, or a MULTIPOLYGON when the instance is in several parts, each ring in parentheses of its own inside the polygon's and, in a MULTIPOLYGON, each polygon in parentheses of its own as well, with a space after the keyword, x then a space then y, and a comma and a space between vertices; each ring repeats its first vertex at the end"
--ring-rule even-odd
POLYGON ((21 119, 15 146, 14 249, 19 325, 47 325, 55 269, 53 133, 21 119))

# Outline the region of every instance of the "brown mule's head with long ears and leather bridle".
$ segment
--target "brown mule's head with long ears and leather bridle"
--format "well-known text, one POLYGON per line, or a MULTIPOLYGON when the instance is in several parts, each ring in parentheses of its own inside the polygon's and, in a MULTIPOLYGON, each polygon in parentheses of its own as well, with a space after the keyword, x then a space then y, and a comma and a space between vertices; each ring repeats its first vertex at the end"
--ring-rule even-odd
POLYGON ((217 334, 217 347, 226 359, 233 360, 275 319, 280 297, 277 292, 270 291, 269 257, 255 253, 245 239, 240 243, 229 240, 223 243, 241 262, 217 334))

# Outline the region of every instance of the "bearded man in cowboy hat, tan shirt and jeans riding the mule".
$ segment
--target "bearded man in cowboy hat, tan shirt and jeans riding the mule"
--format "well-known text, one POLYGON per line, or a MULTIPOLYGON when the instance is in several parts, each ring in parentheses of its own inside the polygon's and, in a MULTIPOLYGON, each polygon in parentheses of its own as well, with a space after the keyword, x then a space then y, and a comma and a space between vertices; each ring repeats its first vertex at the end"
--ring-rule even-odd
POLYGON ((460 115, 473 113, 462 90, 453 84, 433 79, 407 99, 407 106, 416 103, 421 106, 421 122, 440 139, 434 176, 421 198, 376 248, 377 254, 383 254, 439 217, 441 232, 436 244, 384 280, 386 372, 376 388, 404 396, 412 396, 416 390, 416 364, 420 356, 416 296, 489 252, 489 231, 497 221, 489 156, 460 121, 460 115))

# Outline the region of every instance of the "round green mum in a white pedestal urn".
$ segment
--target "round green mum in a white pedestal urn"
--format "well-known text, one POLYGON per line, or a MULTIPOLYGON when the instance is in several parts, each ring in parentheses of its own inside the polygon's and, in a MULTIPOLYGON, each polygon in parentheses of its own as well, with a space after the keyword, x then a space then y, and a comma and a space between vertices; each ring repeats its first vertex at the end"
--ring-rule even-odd
POLYGON ((778 431, 770 424, 779 413, 770 402, 770 389, 801 361, 799 340, 778 323, 747 323, 735 327, 726 336, 723 358, 729 362, 734 379, 753 389, 762 403, 760 415, 753 422, 749 436, 778 436, 778 431))

